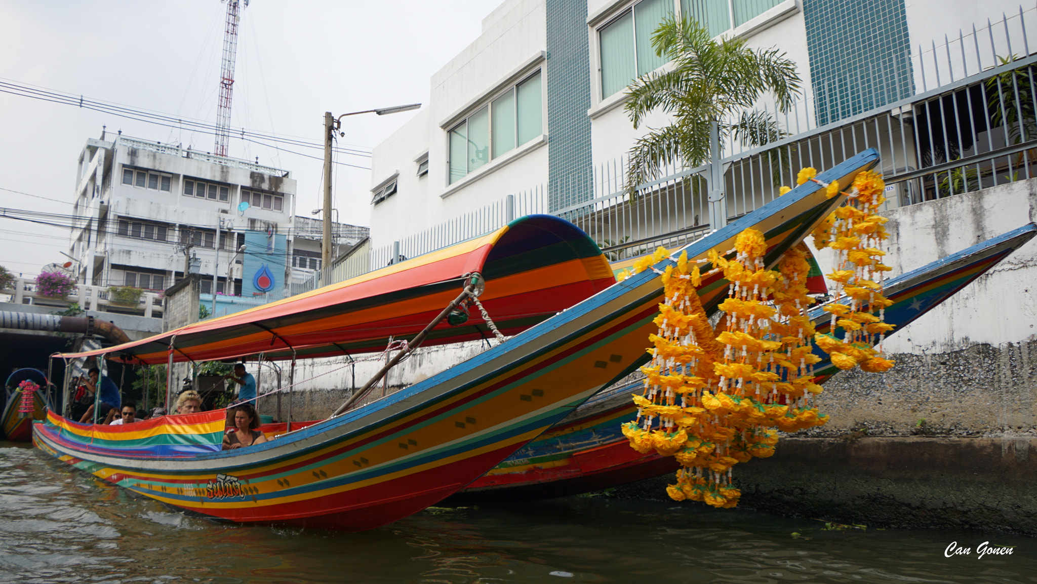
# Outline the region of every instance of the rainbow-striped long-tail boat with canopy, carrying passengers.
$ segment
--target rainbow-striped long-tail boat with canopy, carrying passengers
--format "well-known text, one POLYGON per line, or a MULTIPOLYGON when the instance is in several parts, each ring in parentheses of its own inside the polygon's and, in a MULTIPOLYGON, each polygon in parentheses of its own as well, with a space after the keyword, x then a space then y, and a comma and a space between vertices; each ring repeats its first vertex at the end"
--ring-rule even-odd
MULTIPOLYGON (((848 185, 877 161, 869 149, 818 178, 848 185)), ((765 262, 774 265, 844 198, 829 198, 819 184, 807 183, 690 244, 688 256, 704 259, 713 248, 728 253, 736 235, 753 227, 764 233, 765 262)), ((673 262, 666 258, 656 269, 673 262)), ((438 307, 453 309, 476 295, 502 331, 529 327, 418 384, 235 450, 220 450, 222 410, 123 426, 80 425, 51 412, 34 424, 34 442, 102 479, 214 519, 373 528, 464 488, 646 361, 662 282, 652 271, 611 281, 597 246, 574 226, 544 216, 521 219, 308 295, 62 356, 108 353, 122 362, 163 363, 258 352, 291 358, 371 351, 390 334, 414 335, 438 307), (475 284, 483 282, 480 295, 475 284), (596 294, 572 302, 557 291, 570 287, 596 294)), ((718 274, 703 284, 703 305, 719 304, 726 281, 718 274)), ((413 343, 422 335, 436 342, 478 338, 467 329, 427 325, 413 343)))

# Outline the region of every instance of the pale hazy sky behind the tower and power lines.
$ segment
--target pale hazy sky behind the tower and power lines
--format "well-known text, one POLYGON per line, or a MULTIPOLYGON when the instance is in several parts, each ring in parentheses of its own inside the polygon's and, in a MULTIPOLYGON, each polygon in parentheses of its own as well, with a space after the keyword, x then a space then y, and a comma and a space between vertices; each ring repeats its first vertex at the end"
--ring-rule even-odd
MULTIPOLYGON (((291 171, 296 213, 309 216, 321 206, 323 151, 243 142, 233 129, 320 144, 326 111, 427 104, 431 75, 499 4, 251 0, 242 9, 228 155, 291 171)), ((0 0, 0 81, 215 123, 226 9, 220 0, 0 0)), ((369 154, 416 113, 347 116, 338 145, 369 154)), ((102 127, 206 151, 215 142, 0 92, 0 207, 71 214, 79 155, 102 127)), ((336 157, 352 165, 335 165, 338 220, 368 225, 370 158, 336 157)), ((67 229, 0 217, 0 266, 16 275, 63 262, 67 244, 67 229)))

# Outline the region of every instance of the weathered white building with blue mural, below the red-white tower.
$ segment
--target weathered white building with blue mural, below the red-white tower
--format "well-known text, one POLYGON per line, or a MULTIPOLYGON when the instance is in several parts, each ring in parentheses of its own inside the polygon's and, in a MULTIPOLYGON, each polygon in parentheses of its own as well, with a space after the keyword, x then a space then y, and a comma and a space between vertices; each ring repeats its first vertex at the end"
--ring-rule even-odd
POLYGON ((214 293, 252 297, 290 281, 289 172, 111 138, 87 140, 79 158, 69 254, 81 283, 161 291, 197 270, 212 301, 214 293), (269 279, 258 285, 260 272, 269 279))

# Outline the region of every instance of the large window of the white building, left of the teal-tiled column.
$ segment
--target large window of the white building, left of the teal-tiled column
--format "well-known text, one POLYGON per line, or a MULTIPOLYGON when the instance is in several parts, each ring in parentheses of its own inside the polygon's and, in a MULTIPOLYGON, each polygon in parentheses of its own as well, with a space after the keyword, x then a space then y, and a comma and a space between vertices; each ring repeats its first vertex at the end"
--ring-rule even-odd
POLYGON ((451 128, 449 182, 541 135, 542 102, 537 71, 451 128))

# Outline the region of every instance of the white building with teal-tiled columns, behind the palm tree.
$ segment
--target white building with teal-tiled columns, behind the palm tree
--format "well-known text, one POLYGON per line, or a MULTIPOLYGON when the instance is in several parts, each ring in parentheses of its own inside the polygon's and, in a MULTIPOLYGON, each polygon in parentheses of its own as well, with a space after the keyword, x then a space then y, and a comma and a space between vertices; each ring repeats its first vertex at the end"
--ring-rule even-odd
MULTIPOLYGON (((999 56, 1024 54, 1019 41, 1006 45, 999 37, 993 47, 1000 22, 990 38, 982 28, 988 18, 999 21, 1007 13, 1005 30, 1016 34, 1021 11, 1007 0, 505 0, 483 20, 482 33, 432 76, 429 104, 374 148, 372 249, 420 237, 522 192, 537 193, 541 202, 534 211, 570 218, 602 204, 618 208, 615 201, 587 205, 621 192, 625 152, 648 128, 668 122, 657 114, 636 131, 623 111, 629 82, 667 66, 650 43, 667 15, 690 16, 718 38, 738 36, 749 48, 784 51, 798 66, 805 101, 779 121, 797 135, 996 65, 989 55, 977 61, 981 49, 999 56), (974 25, 980 28, 975 35, 974 25)), ((1037 24, 1034 7, 1026 12, 1032 22, 1024 35, 1037 24)), ((909 107, 898 119, 908 116, 909 107)), ((912 156, 927 156, 913 150, 925 144, 904 142, 912 156)), ((853 147, 863 149, 865 143, 853 147)), ((882 154, 884 162, 895 158, 882 154)), ((909 160, 890 164, 888 172, 924 166, 909 160)), ((728 170, 729 188, 734 182, 748 191, 749 178, 739 184, 739 171, 745 169, 728 170)), ((649 202, 629 214, 655 214, 656 224, 668 219, 666 205, 649 208, 649 202)), ((729 212, 748 211, 739 205, 729 200, 729 212)), ((653 228, 686 230, 707 221, 698 207, 683 213, 669 226, 653 228)), ((611 219, 614 225, 617 218, 611 219)), ((597 241, 623 235, 612 233, 592 235, 597 241)), ((437 234, 429 238, 439 241, 437 234)))

